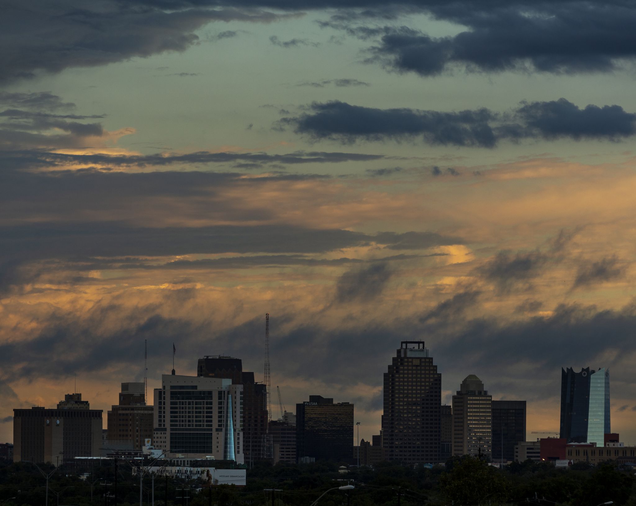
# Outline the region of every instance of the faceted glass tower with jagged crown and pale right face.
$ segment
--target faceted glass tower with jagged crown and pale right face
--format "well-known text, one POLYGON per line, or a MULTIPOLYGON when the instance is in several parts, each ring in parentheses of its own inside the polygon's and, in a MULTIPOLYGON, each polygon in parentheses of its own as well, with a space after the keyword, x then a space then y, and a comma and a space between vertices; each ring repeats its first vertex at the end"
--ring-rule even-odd
POLYGON ((580 373, 561 369, 561 437, 567 442, 604 446, 611 433, 609 369, 586 367, 580 373))

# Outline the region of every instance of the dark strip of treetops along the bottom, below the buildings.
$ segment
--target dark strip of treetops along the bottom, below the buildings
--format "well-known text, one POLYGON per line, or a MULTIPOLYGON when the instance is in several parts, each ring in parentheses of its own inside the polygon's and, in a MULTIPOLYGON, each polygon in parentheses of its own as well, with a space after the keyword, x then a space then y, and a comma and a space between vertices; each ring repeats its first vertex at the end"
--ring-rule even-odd
MULTIPOLYGON (((52 466, 40 466, 51 472, 52 466)), ((97 462, 85 479, 65 465, 49 481, 52 506, 114 505, 115 476, 112 461, 97 462)), ((330 463, 268 465, 259 463, 247 472, 247 486, 202 487, 198 481, 155 478, 155 504, 163 506, 309 506, 324 491, 350 483, 355 489, 329 491, 320 506, 415 505, 522 505, 636 506, 633 470, 607 463, 595 468, 576 465, 556 469, 550 463, 525 462, 503 470, 476 458, 448 461, 432 469, 384 462, 374 469, 349 468, 338 472, 330 463), (197 489, 199 489, 197 491, 197 489), (268 490, 269 489, 269 490, 268 490), (271 489, 274 489, 273 491, 271 489), (349 493, 349 496, 347 494, 349 493), (167 495, 167 503, 166 503, 167 495)), ((139 504, 139 477, 130 465, 119 463, 117 504, 139 504)), ((45 504, 46 480, 30 463, 6 463, 0 468, 0 505, 45 504)), ((143 503, 151 504, 151 479, 144 477, 143 503)))

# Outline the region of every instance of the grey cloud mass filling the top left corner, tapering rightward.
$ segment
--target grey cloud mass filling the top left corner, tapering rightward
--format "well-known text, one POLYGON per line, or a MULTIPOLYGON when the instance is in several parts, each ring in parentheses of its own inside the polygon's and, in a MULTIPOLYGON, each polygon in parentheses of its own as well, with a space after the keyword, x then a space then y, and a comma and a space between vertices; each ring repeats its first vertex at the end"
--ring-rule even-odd
POLYGON ((32 78, 38 72, 90 67, 184 51, 199 40, 195 31, 212 21, 273 22, 277 14, 232 3, 160 3, 35 0, 24 8, 8 0, 0 18, 0 82, 32 78))

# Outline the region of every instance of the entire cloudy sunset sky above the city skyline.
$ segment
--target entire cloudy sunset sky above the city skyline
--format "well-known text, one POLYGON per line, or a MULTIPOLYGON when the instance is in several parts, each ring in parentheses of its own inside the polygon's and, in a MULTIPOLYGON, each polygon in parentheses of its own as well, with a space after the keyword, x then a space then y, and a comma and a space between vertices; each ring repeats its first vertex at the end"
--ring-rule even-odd
POLYGON ((273 393, 361 438, 422 339, 529 432, 609 367, 636 444, 633 0, 0 9, 0 442, 75 378, 109 409, 146 339, 149 389, 172 343, 262 379, 270 313, 273 393))

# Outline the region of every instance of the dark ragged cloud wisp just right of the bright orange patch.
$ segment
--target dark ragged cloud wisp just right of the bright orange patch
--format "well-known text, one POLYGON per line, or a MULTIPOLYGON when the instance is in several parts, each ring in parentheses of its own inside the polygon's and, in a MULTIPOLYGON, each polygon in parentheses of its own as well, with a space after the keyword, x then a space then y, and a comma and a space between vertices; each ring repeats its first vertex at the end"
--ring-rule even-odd
POLYGON ((501 294, 527 290, 530 281, 538 277, 549 257, 540 252, 511 254, 499 252, 492 260, 477 269, 485 280, 492 282, 501 294))

